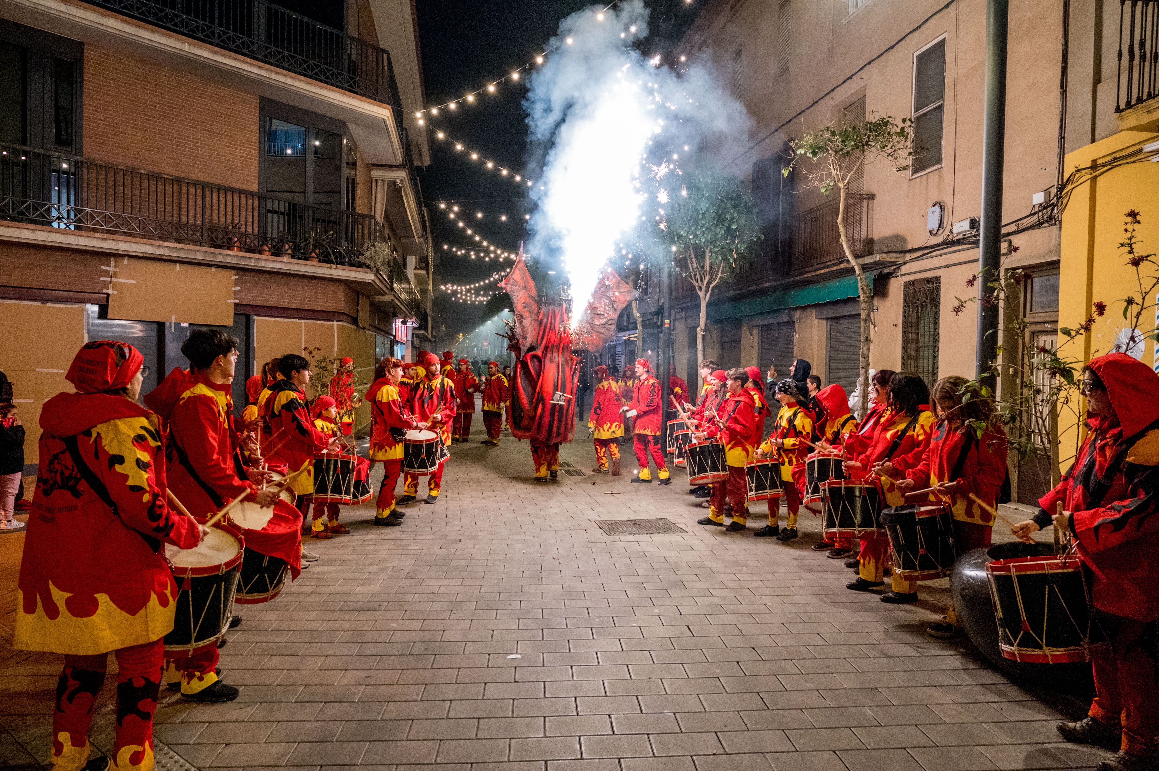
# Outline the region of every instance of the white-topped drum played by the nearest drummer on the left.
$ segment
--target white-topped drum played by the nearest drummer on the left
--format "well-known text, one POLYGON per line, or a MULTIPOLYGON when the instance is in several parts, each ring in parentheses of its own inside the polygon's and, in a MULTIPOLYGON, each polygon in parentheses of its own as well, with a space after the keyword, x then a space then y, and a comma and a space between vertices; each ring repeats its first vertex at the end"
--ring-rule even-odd
POLYGON ((220 640, 233 616, 243 541, 232 528, 211 528, 192 549, 165 546, 177 581, 173 630, 166 651, 192 651, 220 640))

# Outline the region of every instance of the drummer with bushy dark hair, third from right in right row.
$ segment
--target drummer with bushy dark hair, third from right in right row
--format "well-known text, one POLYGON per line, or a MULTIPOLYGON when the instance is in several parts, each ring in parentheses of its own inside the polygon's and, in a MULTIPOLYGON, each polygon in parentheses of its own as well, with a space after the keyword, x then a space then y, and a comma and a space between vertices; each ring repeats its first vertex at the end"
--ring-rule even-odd
MULTIPOLYGON (((879 373, 880 374, 880 373, 879 373)), ((872 417, 867 416, 867 419, 872 417)), ((883 464, 892 473, 904 475, 916 469, 926 456, 934 433, 934 416, 930 411, 930 389, 918 375, 907 372, 895 374, 889 381, 889 409, 881 413, 868 449, 852 455, 845 462, 845 473, 853 479, 876 479, 882 487, 882 508, 905 504, 904 493, 888 477, 881 477, 883 464)), ((851 436, 853 439, 853 436, 851 436)), ((867 531, 860 536, 858 578, 846 583, 847 589, 867 592, 884 583, 889 560, 889 537, 884 530, 867 531)), ((917 583, 894 573, 891 590, 881 596, 882 602, 911 602, 917 583)))

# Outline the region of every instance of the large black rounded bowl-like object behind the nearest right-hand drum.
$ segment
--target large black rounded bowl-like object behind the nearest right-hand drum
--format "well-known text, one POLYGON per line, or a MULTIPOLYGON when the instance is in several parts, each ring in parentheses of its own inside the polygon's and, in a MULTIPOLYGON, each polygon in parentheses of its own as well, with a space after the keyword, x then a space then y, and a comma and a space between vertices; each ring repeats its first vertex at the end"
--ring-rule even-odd
POLYGON ((998 619, 990 583, 986 579, 986 563, 1015 557, 1042 557, 1054 553, 1050 544, 1027 544, 1021 541, 994 544, 987 549, 975 549, 957 558, 949 574, 950 597, 957 614, 958 624, 970 642, 996 669, 1019 680, 1050 682, 1064 685, 1065 690, 1079 696, 1093 692, 1089 663, 1032 663, 1014 661, 1003 656, 998 647, 998 619))

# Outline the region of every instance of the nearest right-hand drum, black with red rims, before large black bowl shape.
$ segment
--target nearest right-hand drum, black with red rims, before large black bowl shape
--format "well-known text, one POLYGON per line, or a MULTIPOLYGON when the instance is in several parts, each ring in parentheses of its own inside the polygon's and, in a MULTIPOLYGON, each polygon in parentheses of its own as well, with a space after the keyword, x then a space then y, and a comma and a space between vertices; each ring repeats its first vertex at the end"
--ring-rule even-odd
POLYGON ((1071 663, 1091 660, 1105 645, 1091 623, 1089 587, 1076 557, 1015 557, 986 564, 998 617, 998 647, 1014 661, 1071 663))

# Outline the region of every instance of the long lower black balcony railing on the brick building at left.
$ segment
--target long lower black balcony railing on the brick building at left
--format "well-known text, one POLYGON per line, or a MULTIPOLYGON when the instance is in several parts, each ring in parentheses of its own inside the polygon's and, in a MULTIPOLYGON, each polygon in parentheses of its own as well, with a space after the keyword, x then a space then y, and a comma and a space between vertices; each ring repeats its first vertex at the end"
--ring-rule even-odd
POLYGON ((0 145, 0 219, 360 265, 369 214, 0 145))

